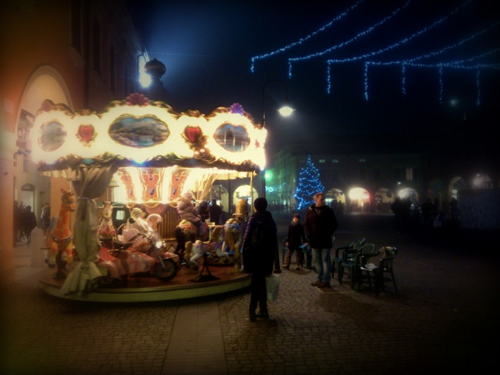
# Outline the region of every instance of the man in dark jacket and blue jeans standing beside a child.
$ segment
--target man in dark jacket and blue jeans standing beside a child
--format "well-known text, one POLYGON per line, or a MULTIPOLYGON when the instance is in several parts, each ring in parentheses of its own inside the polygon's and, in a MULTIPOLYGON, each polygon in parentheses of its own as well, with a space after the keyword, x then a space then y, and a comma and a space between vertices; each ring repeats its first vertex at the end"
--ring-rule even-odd
POLYGON ((338 222, 333 210, 325 206, 323 193, 315 194, 314 199, 315 204, 306 211, 304 221, 304 229, 313 251, 318 273, 317 281, 311 285, 318 288, 330 288, 332 235, 338 227, 338 222))

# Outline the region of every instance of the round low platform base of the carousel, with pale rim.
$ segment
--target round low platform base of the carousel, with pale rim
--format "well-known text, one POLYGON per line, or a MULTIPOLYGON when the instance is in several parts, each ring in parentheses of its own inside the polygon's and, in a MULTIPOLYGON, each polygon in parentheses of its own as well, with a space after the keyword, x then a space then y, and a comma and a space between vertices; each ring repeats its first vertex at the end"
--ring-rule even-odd
POLYGON ((206 277, 206 272, 188 273, 181 269, 171 281, 163 282, 156 276, 128 276, 125 285, 115 283, 106 288, 95 288, 81 296, 63 296, 60 288, 64 280, 53 279, 56 269, 47 269, 40 274, 38 280, 45 292, 55 297, 92 302, 144 302, 189 299, 222 294, 247 288, 251 283, 251 275, 235 272, 233 267, 210 267, 213 277, 206 277), (218 278, 218 280, 214 280, 218 278), (197 281, 193 281, 197 279, 197 281), (117 285, 118 284, 118 285, 117 285))

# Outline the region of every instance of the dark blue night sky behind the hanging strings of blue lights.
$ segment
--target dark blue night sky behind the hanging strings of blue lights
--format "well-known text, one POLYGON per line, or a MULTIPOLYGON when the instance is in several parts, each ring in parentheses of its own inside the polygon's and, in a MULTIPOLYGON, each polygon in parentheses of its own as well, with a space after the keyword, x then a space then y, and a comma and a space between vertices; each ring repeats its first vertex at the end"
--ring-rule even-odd
POLYGON ((291 117, 277 114, 285 91, 279 83, 265 90, 268 146, 273 150, 297 140, 335 141, 342 135, 368 135, 375 139, 403 135, 421 140, 467 126, 490 129, 497 124, 500 87, 500 12, 493 1, 159 1, 127 2, 133 22, 149 53, 162 61, 167 72, 163 85, 174 97, 172 106, 183 112, 198 109, 208 114, 218 106, 238 101, 256 122, 263 112, 263 85, 279 79, 288 88, 296 109, 291 117), (383 5, 381 5, 383 3, 383 5), (435 3, 439 3, 436 5, 435 3), (450 15, 453 10, 466 5, 450 15), (405 7, 406 6, 406 7, 405 7), (403 9, 392 13, 398 8, 403 9), (274 56, 258 59, 251 72, 251 58, 298 42, 335 20, 301 44, 274 56), (448 16, 448 17, 447 17, 448 16), (382 22, 386 17, 385 22, 382 22), (438 20, 443 22, 431 27, 438 20), (382 22, 373 31, 348 42, 382 22), (346 60, 385 49, 428 28, 409 42, 383 53, 331 65, 331 93, 327 93, 328 59, 346 60), (481 69, 479 90, 477 69, 405 68, 405 89, 401 65, 368 67, 369 100, 365 99, 365 62, 387 63, 409 60, 442 51, 414 63, 435 65, 466 61, 496 65, 481 69), (339 46, 322 56, 292 63, 288 59, 308 56, 339 46), (441 94, 442 87, 442 94, 441 94), (441 100, 440 100, 441 98, 441 100), (453 105, 452 100, 456 100, 453 105), (477 101, 480 101, 477 105, 477 101), (464 117, 466 121, 464 121, 464 117))

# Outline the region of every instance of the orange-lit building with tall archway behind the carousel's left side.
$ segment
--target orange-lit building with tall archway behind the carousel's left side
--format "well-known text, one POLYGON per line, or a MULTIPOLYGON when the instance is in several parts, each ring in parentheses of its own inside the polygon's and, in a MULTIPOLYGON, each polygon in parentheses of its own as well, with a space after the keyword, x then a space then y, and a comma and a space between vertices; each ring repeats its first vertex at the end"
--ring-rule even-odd
MULTIPOLYGON (((62 178, 40 176, 31 161, 33 119, 42 101, 73 112, 101 110, 138 90, 144 47, 123 1, 9 1, 0 13, 0 215, 12 218, 13 201, 31 203, 40 217, 60 206, 62 178)), ((0 282, 14 278, 12 220, 0 236, 0 282)))

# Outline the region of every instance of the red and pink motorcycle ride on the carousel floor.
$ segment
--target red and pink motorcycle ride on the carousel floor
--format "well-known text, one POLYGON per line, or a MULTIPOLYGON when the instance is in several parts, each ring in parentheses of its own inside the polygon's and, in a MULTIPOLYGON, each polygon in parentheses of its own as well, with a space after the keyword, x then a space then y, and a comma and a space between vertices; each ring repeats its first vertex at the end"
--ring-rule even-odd
MULTIPOLYGON (((133 231, 133 230, 131 230, 133 231)), ((99 283, 108 285, 129 274, 151 273, 162 281, 170 281, 178 272, 178 256, 166 251, 165 242, 155 241, 143 233, 135 233, 127 242, 116 241, 114 250, 101 247, 97 266, 106 276, 99 283)))

